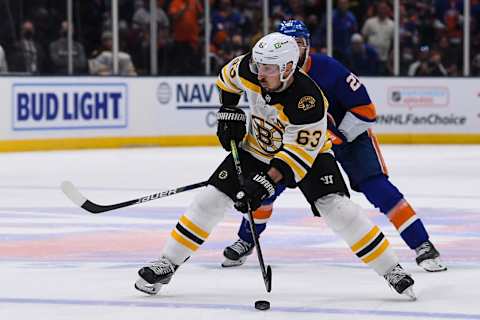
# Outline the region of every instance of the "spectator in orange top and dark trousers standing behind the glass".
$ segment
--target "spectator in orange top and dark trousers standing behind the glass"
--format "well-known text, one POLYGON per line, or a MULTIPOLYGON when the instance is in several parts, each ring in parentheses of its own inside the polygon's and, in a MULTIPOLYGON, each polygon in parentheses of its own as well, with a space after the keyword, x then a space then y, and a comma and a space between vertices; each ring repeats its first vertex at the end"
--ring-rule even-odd
POLYGON ((172 0, 168 13, 173 21, 172 69, 175 74, 201 72, 199 0, 172 0))

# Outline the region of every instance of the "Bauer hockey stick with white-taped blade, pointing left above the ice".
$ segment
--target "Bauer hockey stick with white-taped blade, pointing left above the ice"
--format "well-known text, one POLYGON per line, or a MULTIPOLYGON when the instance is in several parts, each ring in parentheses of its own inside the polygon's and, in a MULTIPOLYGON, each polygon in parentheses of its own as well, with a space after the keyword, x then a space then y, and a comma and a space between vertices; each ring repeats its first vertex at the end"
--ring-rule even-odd
POLYGON ((77 206, 91 213, 102 213, 102 212, 112 211, 119 208, 133 206, 136 204, 140 204, 140 203, 144 203, 152 200, 157 200, 160 198, 165 198, 180 192, 189 191, 189 190, 197 189, 200 187, 205 187, 207 184, 208 184, 208 181, 202 181, 202 182, 191 184, 188 186, 160 191, 148 196, 140 197, 140 198, 125 201, 125 202, 114 203, 111 205, 101 205, 88 200, 80 193, 80 191, 78 191, 78 189, 70 181, 62 182, 61 189, 63 193, 65 193, 65 195, 70 200, 72 200, 72 202, 75 203, 77 206))

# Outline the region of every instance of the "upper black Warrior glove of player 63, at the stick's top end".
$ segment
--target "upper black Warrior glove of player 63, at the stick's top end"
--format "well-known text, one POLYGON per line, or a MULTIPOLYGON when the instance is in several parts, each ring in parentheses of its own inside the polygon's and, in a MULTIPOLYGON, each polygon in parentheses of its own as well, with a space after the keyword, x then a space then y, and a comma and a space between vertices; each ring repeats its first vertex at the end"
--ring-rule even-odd
POLYGON ((217 112, 217 136, 223 149, 230 151, 230 140, 238 145, 247 133, 247 116, 242 109, 234 106, 222 106, 217 112))

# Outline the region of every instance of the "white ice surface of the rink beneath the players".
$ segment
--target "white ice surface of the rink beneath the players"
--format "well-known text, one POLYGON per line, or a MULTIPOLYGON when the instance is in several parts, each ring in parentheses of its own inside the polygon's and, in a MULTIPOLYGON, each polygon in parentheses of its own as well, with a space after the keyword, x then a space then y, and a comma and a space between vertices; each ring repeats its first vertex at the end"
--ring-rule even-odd
POLYGON ((480 319, 480 147, 384 146, 383 153, 449 266, 444 273, 419 269, 385 217, 352 195, 413 274, 415 302, 359 263, 291 190, 276 202, 261 239, 273 269, 270 294, 255 255, 243 267, 220 268, 240 220, 232 211, 159 296, 144 296, 133 289, 136 271, 158 256, 195 191, 92 215, 60 183, 70 180, 102 204, 120 202, 205 180, 224 152, 0 154, 0 319, 480 319), (258 299, 268 299, 271 310, 255 310, 258 299))

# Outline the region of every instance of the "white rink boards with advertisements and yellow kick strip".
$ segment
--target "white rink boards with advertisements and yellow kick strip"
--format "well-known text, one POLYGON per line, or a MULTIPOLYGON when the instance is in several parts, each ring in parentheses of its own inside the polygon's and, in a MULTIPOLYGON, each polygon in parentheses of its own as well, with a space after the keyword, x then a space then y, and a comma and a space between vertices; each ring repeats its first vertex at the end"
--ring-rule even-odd
MULTIPOLYGON (((362 80, 377 106, 381 141, 480 143, 476 79, 362 80)), ((1 77, 0 151, 216 145, 214 81, 1 77)))

